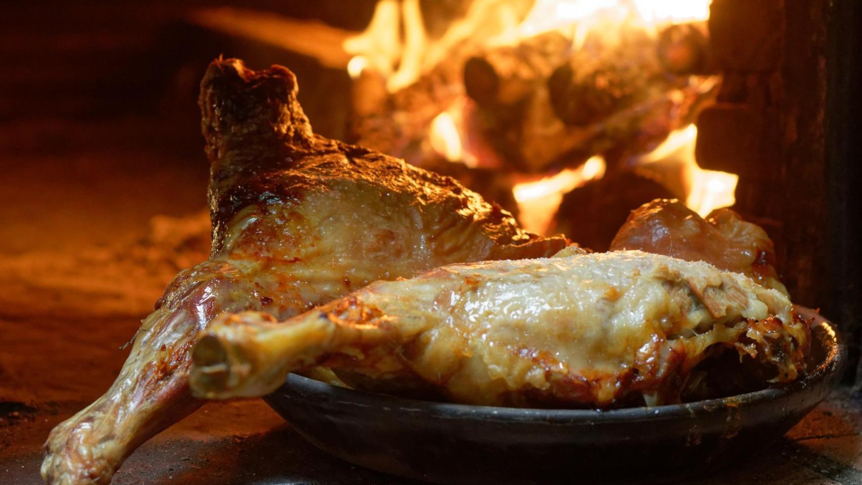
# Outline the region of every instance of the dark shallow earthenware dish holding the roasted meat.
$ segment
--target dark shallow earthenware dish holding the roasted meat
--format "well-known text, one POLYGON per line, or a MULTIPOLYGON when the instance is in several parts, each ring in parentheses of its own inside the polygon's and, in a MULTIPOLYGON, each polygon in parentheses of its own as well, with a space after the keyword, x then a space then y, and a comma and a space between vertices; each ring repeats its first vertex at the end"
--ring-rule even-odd
POLYGON ((265 400, 351 463, 440 483, 665 482, 759 451, 826 398, 846 356, 815 317, 809 373, 724 399, 611 411, 415 401, 291 374, 265 400))

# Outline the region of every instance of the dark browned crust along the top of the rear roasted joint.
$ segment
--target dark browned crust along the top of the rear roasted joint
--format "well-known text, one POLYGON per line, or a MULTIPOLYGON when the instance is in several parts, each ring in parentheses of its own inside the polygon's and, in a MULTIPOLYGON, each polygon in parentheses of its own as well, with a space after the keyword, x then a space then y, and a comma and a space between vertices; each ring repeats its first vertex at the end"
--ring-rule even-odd
POLYGON ((214 253, 223 249, 226 227, 242 208, 298 204, 304 193, 343 183, 346 171, 351 172, 353 183, 409 193, 416 204, 469 210, 498 245, 539 243, 535 257, 550 256, 565 247, 562 235, 541 238, 523 231, 509 212, 497 203, 484 202, 452 177, 314 135, 297 102, 297 90, 296 77, 279 65, 252 71, 239 59, 216 59, 209 66, 198 103, 211 163, 214 253))

